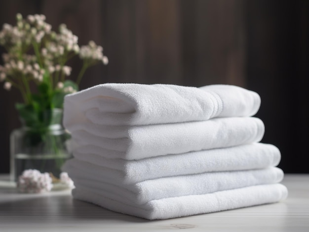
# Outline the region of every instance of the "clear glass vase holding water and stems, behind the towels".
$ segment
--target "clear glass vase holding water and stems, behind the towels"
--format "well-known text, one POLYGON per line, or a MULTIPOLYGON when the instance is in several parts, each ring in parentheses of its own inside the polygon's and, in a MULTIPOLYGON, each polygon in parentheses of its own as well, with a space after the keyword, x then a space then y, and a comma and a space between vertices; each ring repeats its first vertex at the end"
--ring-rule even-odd
POLYGON ((23 125, 11 133, 11 180, 17 181, 26 169, 37 169, 59 178, 62 165, 71 158, 70 134, 62 125, 62 115, 62 109, 52 109, 42 114, 44 123, 40 126, 23 125))

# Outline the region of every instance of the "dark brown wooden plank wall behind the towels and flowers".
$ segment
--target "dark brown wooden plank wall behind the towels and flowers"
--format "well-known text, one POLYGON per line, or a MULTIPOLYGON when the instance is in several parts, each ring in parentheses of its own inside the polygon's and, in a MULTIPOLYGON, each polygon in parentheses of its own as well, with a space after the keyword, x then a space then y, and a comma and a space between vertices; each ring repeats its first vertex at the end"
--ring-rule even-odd
MULTIPOLYGON (((89 69, 82 89, 221 83, 257 91, 263 142, 279 147, 285 172, 309 172, 308 0, 0 0, 0 25, 14 24, 17 12, 44 14, 54 29, 67 24, 80 45, 104 47, 109 65, 89 69)), ((74 79, 79 61, 72 66, 74 79)), ((0 172, 9 171, 18 100, 0 87, 0 172)))

